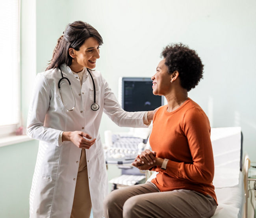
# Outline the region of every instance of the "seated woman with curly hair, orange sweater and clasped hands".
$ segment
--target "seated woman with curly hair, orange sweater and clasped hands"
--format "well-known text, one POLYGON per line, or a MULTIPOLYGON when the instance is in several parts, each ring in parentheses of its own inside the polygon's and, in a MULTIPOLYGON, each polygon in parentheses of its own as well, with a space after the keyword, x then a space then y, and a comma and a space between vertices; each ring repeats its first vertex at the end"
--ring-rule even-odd
POLYGON ((152 76, 153 93, 167 99, 156 111, 145 150, 132 165, 158 172, 145 184, 117 189, 104 201, 106 218, 208 218, 217 208, 210 122, 202 108, 187 97, 203 77, 196 51, 168 45, 152 76))

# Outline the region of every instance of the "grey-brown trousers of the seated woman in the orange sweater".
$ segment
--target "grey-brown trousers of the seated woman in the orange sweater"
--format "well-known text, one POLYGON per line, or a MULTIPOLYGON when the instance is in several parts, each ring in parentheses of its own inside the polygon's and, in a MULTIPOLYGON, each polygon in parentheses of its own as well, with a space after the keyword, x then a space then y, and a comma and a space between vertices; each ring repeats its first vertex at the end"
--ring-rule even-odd
POLYGON ((210 195, 185 189, 160 192, 150 182, 114 190, 104 200, 105 218, 208 218, 216 208, 210 195))

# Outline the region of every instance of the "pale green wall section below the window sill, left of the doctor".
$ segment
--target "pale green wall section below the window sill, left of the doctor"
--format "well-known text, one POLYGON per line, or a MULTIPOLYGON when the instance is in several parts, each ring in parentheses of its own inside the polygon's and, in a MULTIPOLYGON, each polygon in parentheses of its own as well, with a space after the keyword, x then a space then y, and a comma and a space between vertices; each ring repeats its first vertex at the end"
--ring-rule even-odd
POLYGON ((0 147, 0 217, 28 218, 29 194, 38 143, 0 147))

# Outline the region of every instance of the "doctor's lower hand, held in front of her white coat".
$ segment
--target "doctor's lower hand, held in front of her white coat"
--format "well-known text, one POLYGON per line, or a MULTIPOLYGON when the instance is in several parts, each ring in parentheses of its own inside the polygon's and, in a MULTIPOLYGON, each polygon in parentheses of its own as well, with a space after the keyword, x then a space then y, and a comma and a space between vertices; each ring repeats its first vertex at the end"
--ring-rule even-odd
POLYGON ((89 134, 83 133, 81 131, 73 131, 73 132, 63 132, 62 134, 62 142, 70 141, 73 142, 76 147, 89 149, 94 143, 96 138, 93 140, 89 134), (87 139, 86 139, 87 138, 87 139))

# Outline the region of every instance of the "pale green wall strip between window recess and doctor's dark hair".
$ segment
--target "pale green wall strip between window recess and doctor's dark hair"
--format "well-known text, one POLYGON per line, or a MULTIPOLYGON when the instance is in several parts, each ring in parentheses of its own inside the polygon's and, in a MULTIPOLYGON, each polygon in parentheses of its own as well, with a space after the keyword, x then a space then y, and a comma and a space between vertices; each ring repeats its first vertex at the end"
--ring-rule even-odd
POLYGON ((70 0, 37 0, 37 73, 45 71, 58 38, 69 22, 70 0))

